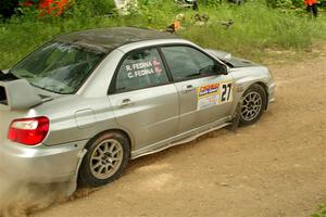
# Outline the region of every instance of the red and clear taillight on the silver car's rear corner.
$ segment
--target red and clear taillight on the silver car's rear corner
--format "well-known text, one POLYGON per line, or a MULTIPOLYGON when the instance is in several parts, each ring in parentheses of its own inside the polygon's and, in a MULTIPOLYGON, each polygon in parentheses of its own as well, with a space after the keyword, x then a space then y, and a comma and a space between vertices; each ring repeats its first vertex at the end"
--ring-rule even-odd
POLYGON ((11 123, 8 139, 14 142, 35 145, 43 141, 49 131, 48 117, 15 119, 11 123))

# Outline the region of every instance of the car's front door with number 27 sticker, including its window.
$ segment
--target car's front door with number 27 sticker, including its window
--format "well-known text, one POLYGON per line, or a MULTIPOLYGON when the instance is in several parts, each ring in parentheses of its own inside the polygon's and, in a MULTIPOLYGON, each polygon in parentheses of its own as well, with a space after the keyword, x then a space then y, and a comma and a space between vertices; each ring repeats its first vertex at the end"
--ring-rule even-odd
POLYGON ((217 75, 218 63, 189 46, 161 48, 180 101, 179 131, 187 131, 230 115, 233 78, 217 75))

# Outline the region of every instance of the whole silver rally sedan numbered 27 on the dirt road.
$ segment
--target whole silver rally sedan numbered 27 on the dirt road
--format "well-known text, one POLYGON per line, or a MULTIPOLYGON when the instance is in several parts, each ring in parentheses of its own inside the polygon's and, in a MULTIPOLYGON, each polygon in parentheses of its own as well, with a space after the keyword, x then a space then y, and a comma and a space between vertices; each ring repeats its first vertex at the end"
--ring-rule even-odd
POLYGON ((256 122, 274 87, 268 68, 171 34, 62 35, 0 73, 0 171, 99 187, 130 158, 256 122))

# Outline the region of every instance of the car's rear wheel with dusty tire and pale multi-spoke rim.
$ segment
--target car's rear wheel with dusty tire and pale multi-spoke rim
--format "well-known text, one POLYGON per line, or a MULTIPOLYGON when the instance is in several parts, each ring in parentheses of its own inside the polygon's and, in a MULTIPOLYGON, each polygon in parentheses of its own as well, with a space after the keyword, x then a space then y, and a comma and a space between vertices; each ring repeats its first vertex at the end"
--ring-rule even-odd
POLYGON ((88 142, 86 149, 78 176, 78 183, 83 187, 100 187, 116 180, 129 161, 129 140, 120 132, 99 135, 88 142))

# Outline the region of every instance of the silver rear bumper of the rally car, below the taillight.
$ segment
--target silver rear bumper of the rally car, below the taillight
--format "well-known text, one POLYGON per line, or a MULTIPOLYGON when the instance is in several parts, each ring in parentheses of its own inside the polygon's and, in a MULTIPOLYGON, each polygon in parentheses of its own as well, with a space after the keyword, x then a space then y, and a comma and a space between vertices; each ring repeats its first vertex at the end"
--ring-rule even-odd
POLYGON ((25 146, 5 140, 0 144, 0 173, 36 183, 71 181, 86 142, 25 146))

